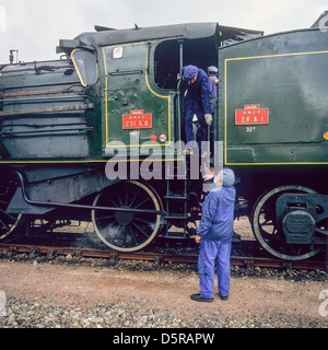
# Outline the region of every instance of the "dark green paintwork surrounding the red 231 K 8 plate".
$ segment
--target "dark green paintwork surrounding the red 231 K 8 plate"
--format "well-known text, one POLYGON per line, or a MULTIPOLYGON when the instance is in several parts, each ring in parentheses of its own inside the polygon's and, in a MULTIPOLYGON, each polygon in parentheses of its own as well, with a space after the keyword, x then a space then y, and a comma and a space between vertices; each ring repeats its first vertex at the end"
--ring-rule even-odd
MULTIPOLYGON (((106 79, 107 79, 107 132, 108 142, 124 142, 132 145, 136 130, 139 130, 139 144, 150 141, 151 136, 157 138, 161 135, 167 137, 172 125, 169 125, 169 94, 155 94, 150 88, 150 78, 147 77, 147 61, 150 45, 138 43, 125 45, 122 58, 113 58, 113 50, 116 46, 105 47, 106 79), (152 128, 148 129, 122 129, 122 116, 129 115, 131 110, 142 109, 144 114, 152 115, 152 128), (131 136, 132 132, 132 136, 131 136), (133 136, 134 135, 134 136, 133 136), (130 139, 130 136, 133 139, 130 139)), ((105 74, 104 74, 105 75, 105 74)), ((153 88, 154 89, 154 88, 153 88)), ((106 116, 105 116, 106 117, 106 116)), ((164 142, 157 142, 162 145, 164 142)))

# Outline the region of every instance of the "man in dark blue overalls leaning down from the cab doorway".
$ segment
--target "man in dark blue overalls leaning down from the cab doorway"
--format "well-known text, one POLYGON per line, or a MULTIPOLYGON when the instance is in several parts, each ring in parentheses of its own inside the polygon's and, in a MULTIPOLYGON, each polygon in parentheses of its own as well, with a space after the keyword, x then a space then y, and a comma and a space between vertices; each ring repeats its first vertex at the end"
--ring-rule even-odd
MULTIPOLYGON (((185 128, 186 128, 186 154, 192 153, 194 141, 192 118, 197 115, 200 124, 200 141, 207 141, 207 125, 211 125, 211 105, 210 105, 210 89, 209 78, 207 73, 196 66, 185 66, 183 68, 184 79, 188 81, 188 92, 185 97, 185 128), (189 143, 190 142, 190 143, 189 143)), ((203 143, 204 147, 204 143, 203 143)), ((202 155, 206 155, 207 148, 202 150, 202 155)))

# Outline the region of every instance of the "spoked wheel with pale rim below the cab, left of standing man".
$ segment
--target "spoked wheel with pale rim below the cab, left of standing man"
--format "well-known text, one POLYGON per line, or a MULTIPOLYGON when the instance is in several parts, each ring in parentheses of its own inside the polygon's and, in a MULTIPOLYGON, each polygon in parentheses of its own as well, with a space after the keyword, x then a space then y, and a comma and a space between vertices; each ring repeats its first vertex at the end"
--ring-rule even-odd
POLYGON ((125 180, 113 185, 95 197, 93 206, 139 210, 92 210, 92 222, 97 236, 115 250, 142 249, 153 242, 161 231, 161 214, 147 210, 162 211, 162 201, 155 190, 144 183, 125 180))

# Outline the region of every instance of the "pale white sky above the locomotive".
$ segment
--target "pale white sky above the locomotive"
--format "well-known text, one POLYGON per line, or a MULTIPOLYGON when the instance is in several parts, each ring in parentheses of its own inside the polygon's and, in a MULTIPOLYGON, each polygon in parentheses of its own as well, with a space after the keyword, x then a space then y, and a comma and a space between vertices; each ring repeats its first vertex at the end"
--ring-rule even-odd
POLYGON ((71 39, 94 25, 130 28, 188 22, 265 31, 309 27, 328 0, 0 0, 0 63, 9 50, 19 60, 59 58, 59 39, 71 39))

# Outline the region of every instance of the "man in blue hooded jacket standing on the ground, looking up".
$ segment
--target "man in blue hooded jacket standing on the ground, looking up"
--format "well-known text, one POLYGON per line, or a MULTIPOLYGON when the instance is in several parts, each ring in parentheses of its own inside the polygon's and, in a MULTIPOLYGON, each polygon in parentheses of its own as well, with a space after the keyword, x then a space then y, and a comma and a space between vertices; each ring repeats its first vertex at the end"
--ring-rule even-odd
POLYGON ((222 300, 230 292, 230 252, 234 225, 236 190, 235 175, 223 168, 214 178, 214 187, 202 205, 202 215, 197 229, 196 242, 200 244, 198 272, 200 293, 190 298, 198 302, 212 302, 214 265, 216 261, 218 288, 222 300))

